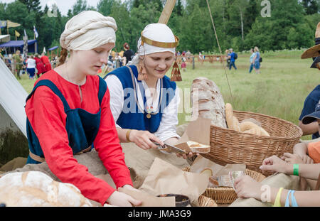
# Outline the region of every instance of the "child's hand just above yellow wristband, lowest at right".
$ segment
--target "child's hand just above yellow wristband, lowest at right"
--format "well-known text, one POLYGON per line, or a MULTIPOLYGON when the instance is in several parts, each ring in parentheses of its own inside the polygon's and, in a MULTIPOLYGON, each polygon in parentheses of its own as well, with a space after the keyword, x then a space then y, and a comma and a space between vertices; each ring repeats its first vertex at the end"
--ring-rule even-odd
POLYGON ((235 193, 239 198, 261 199, 261 183, 252 179, 250 176, 240 176, 235 179, 235 193))

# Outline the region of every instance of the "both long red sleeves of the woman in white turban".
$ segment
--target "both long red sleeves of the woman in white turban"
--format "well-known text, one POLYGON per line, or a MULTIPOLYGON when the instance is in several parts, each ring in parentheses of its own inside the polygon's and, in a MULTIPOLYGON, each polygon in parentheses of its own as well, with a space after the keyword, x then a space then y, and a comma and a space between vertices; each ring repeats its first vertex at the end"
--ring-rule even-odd
MULTIPOLYGON (((108 117, 103 116, 108 113, 106 110, 107 99, 104 98, 104 100, 105 108, 102 111, 102 120, 107 120, 108 117)), ((73 151, 69 146, 68 134, 65 129, 66 114, 60 98, 48 87, 38 87, 26 104, 26 115, 38 136, 50 171, 61 182, 72 183, 79 188, 82 195, 86 198, 95 200, 103 205, 115 190, 104 180, 95 178, 95 176, 88 172, 86 166, 78 163, 73 157, 73 151)), ((112 115, 110 114, 110 116, 112 115)), ((115 128, 108 129, 108 126, 112 126, 110 122, 102 125, 105 126, 102 126, 102 129, 98 133, 100 137, 100 141, 97 143, 97 146, 100 146, 98 148, 98 151, 100 151, 99 155, 117 185, 122 185, 122 183, 131 184, 131 180, 129 182, 130 177, 127 177, 128 173, 124 169, 123 163, 119 161, 119 158, 121 158, 120 152, 122 151, 119 143, 117 144, 117 136, 114 136, 115 128), (107 131, 107 134, 102 136, 102 133, 105 131, 107 131), (104 139, 106 135, 110 135, 111 137, 104 139), (102 141, 105 141, 105 148, 102 148, 102 141), (107 156, 107 154, 110 155, 107 156), (113 157, 117 159, 112 159, 113 157), (125 173, 119 174, 122 172, 125 173), (119 178, 116 178, 116 176, 119 176, 119 178), (128 182, 126 182, 127 180, 128 182)))

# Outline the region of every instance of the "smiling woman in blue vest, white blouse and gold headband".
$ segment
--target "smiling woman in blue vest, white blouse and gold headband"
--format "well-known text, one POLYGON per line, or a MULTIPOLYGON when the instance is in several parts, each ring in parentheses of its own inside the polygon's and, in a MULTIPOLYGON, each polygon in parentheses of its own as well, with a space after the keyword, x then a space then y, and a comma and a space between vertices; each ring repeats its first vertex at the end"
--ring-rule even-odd
MULTIPOLYGON (((120 142, 132 142, 156 154, 154 142, 174 145, 180 138, 176 133, 180 102, 178 87, 166 76, 174 63, 177 45, 178 38, 168 26, 151 23, 142 31, 138 53, 132 61, 105 77, 120 142)), ((128 148, 134 149, 133 146, 128 148)), ((144 154, 141 149, 137 151, 144 154)), ((124 153, 127 154, 125 148, 124 153)), ((126 162, 127 156, 132 154, 126 155, 126 162)), ((187 156, 185 154, 183 159, 174 154, 171 158, 171 163, 185 165, 187 156)))

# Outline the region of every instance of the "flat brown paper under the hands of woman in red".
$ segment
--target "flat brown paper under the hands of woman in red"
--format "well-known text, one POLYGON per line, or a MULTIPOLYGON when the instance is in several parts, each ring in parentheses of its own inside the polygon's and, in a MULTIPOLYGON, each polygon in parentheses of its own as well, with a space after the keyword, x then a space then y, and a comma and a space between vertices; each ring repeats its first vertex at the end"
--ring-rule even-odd
POLYGON ((132 196, 136 200, 142 201, 142 204, 139 207, 175 207, 176 198, 174 197, 156 197, 145 193, 143 190, 128 190, 124 188, 119 188, 119 192, 125 193, 132 196))

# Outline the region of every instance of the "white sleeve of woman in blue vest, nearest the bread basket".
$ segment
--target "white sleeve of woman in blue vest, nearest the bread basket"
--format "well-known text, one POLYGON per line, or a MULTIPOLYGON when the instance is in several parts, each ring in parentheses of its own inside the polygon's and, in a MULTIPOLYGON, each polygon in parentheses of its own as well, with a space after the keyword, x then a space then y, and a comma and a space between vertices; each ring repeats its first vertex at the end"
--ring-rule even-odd
POLYGON ((158 130, 154 133, 161 141, 166 141, 171 137, 180 138, 176 134, 176 126, 178 126, 178 107, 180 104, 180 95, 178 86, 176 87, 176 93, 169 105, 164 108, 162 113, 161 122, 158 130))

